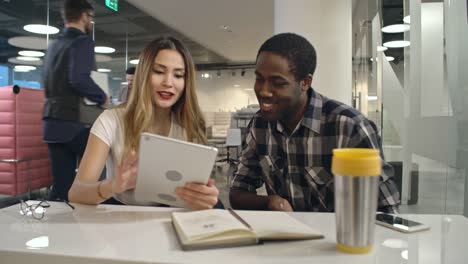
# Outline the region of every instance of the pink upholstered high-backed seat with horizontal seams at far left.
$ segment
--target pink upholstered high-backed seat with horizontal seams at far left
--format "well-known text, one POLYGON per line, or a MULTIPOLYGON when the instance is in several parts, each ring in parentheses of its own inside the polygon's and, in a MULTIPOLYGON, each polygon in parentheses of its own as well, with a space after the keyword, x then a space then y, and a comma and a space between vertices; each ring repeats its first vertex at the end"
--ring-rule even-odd
POLYGON ((44 91, 0 87, 0 194, 18 195, 52 184, 42 142, 44 91))

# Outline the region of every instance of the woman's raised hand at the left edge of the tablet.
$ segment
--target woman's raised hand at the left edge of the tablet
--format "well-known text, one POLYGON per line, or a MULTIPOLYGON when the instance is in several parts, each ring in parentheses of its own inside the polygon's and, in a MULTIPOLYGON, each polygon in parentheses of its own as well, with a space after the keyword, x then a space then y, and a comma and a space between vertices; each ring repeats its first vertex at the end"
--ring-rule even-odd
POLYGON ((112 179, 112 193, 122 193, 136 186, 138 174, 138 157, 135 151, 124 159, 122 166, 115 166, 115 176, 112 179))

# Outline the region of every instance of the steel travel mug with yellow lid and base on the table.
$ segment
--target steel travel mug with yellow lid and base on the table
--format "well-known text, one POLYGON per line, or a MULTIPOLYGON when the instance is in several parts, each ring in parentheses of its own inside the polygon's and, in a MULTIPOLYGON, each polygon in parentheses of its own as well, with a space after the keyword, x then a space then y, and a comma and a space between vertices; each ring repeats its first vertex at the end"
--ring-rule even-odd
POLYGON ((333 150, 338 250, 354 254, 372 250, 381 171, 376 149, 333 150))

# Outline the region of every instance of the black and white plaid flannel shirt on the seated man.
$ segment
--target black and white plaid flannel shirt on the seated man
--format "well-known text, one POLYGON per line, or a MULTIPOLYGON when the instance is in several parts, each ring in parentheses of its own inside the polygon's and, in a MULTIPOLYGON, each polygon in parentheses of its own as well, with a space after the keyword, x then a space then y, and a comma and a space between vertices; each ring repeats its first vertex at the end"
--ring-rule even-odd
POLYGON ((400 194, 393 168, 383 160, 374 123, 354 108, 309 91, 309 104, 296 129, 288 134, 280 122, 258 112, 250 121, 231 188, 256 193, 264 183, 268 195, 287 199, 295 211, 334 211, 331 172, 334 148, 380 149, 378 209, 396 212, 400 194))

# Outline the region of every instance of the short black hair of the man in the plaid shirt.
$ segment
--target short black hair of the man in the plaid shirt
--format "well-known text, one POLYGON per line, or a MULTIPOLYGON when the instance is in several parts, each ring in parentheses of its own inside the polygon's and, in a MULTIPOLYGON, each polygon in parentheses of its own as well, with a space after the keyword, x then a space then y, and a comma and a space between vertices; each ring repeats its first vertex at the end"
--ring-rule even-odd
POLYGON ((314 46, 297 34, 281 33, 269 38, 258 50, 257 59, 262 51, 272 52, 287 59, 289 68, 298 81, 315 72, 317 54, 314 46))

